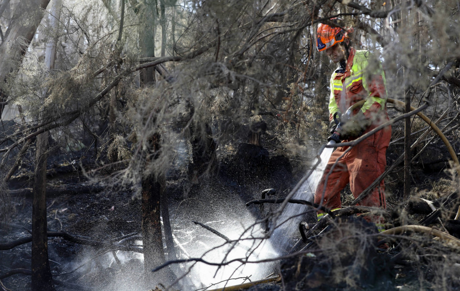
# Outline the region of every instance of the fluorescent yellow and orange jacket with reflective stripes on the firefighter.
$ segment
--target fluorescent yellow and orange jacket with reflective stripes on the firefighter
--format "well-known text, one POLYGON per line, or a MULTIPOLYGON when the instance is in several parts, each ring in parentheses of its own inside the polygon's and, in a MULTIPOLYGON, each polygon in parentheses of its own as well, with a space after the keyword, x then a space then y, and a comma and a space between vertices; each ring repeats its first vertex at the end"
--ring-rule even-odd
POLYGON ((364 116, 379 123, 386 119, 386 80, 380 62, 371 58, 369 51, 350 49, 344 73, 334 72, 331 76, 329 120, 337 111, 345 113, 354 103, 366 100, 361 107, 364 116))

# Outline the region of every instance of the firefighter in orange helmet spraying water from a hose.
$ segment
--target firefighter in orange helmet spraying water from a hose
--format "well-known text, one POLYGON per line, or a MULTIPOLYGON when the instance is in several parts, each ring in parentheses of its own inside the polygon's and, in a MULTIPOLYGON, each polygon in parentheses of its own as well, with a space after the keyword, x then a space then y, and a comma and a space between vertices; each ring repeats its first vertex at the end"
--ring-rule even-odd
MULTIPOLYGON (((333 21, 338 23, 340 20, 333 21)), ((352 32, 353 29, 342 29, 339 25, 320 24, 317 29, 318 51, 325 51, 332 62, 338 64, 331 76, 329 101, 330 131, 335 133, 336 142, 354 140, 388 120, 382 66, 376 58, 371 57, 369 51, 353 48, 350 40, 352 32), (346 113, 351 105, 360 100, 365 100, 365 103, 354 110, 349 121, 342 122, 341 128, 336 128, 334 115, 346 113)), ((341 208, 340 191, 348 183, 355 198, 358 197, 385 170, 390 137, 391 127, 388 126, 354 146, 342 157, 347 147, 337 147, 315 191, 314 202, 331 210, 341 208)), ((382 181, 359 205, 385 209, 384 189, 382 181)), ((318 219, 322 215, 318 213, 318 219)), ((374 222, 380 224, 381 221, 374 222)), ((378 227, 382 229, 381 225, 378 227)))

